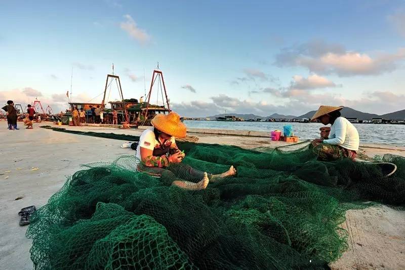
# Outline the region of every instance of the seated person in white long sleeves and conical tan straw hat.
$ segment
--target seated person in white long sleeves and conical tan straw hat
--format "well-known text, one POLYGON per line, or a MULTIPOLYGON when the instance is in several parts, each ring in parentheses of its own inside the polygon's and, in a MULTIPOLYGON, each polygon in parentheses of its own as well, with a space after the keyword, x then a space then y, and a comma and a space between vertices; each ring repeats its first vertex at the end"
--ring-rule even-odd
POLYGON ((319 120, 323 125, 331 124, 331 131, 326 138, 311 142, 312 149, 319 160, 333 161, 340 158, 354 160, 358 151, 359 137, 357 129, 346 118, 340 116, 342 106, 321 105, 311 118, 311 122, 319 120))

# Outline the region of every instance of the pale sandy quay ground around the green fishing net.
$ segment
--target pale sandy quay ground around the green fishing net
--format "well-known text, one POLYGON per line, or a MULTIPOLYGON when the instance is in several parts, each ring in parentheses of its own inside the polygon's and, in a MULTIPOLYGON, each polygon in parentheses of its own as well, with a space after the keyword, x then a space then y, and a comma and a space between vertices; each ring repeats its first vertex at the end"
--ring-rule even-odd
MULTIPOLYGON (((3 123, 1 123, 3 124, 3 123)), ((65 182, 66 175, 81 164, 110 162, 132 149, 119 148, 121 141, 73 135, 37 128, 9 131, 0 125, 0 265, 2 269, 31 269, 31 240, 27 227, 18 225, 22 207, 46 204, 65 182), (18 200, 16 200, 18 199, 18 200)), ((64 126, 64 128, 66 128, 64 126)), ((72 130, 139 135, 138 130, 97 127, 70 127, 72 130)), ((197 134, 190 134, 197 135, 197 134)), ((245 148, 279 146, 266 138, 197 135, 200 142, 233 144, 245 148)), ((369 156, 394 153, 405 156, 405 147, 363 145, 369 156)), ((349 210, 342 227, 349 232, 349 249, 333 269, 405 269, 405 212, 387 206, 349 210)))

